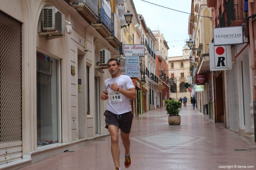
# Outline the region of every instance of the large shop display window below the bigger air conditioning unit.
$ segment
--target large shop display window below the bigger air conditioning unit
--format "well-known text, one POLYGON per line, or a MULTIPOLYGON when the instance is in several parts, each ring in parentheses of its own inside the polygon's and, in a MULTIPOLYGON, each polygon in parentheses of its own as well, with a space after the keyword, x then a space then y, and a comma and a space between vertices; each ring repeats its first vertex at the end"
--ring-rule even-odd
POLYGON ((37 146, 58 143, 58 79, 58 60, 37 52, 37 146))

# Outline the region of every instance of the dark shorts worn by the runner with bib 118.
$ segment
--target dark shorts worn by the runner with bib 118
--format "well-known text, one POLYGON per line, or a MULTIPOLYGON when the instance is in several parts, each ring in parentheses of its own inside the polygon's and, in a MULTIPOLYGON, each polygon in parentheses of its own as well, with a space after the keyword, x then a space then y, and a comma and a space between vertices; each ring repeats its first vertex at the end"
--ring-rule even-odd
POLYGON ((132 127, 132 111, 123 113, 121 115, 116 115, 110 111, 104 112, 105 116, 105 128, 108 129, 108 125, 115 125, 120 128, 124 133, 130 133, 132 127))

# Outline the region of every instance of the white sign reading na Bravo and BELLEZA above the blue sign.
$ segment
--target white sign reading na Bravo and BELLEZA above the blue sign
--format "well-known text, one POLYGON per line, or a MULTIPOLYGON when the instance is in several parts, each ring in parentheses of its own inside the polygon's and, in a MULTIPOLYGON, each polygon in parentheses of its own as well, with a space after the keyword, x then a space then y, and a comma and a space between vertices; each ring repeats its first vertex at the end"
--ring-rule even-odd
POLYGON ((124 44, 125 56, 144 56, 144 44, 124 44))

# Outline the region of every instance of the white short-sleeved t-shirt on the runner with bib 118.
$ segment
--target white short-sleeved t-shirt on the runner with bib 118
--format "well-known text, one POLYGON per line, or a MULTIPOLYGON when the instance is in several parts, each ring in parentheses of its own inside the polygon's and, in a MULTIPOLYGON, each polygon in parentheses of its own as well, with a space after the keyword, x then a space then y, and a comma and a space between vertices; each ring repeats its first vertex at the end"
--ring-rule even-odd
MULTIPOLYGON (((110 85, 113 83, 117 84, 118 87, 123 88, 124 90, 134 88, 132 79, 129 76, 121 75, 117 78, 109 78, 105 80, 105 83, 104 83, 105 84, 104 90, 107 90, 109 98, 110 98, 110 93, 115 92, 114 90, 110 90, 110 85)), ((110 102, 110 100, 108 99, 107 110, 117 115, 130 112, 132 110, 132 107, 130 105, 130 99, 124 96, 122 93, 120 93, 119 95, 122 96, 122 101, 110 102)), ((117 98, 116 96, 114 97, 117 98)), ((114 97, 112 96, 112 98, 114 97)))

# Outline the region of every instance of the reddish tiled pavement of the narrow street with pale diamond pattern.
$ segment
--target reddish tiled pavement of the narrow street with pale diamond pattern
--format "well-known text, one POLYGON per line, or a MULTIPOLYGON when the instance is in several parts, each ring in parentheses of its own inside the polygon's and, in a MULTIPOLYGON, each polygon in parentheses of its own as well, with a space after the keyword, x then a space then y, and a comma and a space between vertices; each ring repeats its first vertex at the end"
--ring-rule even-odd
MULTIPOLYGON (((207 116, 182 107, 181 125, 168 125, 165 108, 134 118, 130 170, 256 169, 256 146, 207 116)), ((122 170, 124 148, 120 141, 122 170)), ((113 170, 110 137, 96 139, 19 170, 113 170)))

